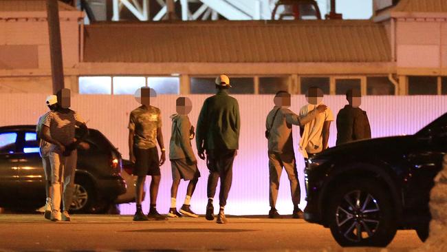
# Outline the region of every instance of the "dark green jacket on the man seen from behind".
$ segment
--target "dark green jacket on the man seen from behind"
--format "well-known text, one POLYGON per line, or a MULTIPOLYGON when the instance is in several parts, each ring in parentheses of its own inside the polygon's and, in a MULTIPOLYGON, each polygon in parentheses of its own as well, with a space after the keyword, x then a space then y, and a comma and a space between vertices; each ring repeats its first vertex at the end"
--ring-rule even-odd
POLYGON ((207 98, 197 120, 197 151, 204 149, 239 149, 241 118, 239 104, 226 90, 207 98))

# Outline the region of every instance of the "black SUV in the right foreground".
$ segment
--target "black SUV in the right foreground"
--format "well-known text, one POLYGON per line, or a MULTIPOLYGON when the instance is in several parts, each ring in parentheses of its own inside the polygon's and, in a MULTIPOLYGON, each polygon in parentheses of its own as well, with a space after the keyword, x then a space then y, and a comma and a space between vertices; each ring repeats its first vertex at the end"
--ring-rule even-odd
POLYGON ((341 246, 386 246, 397 229, 428 237, 428 201, 447 153, 447 114, 411 136, 330 148, 305 169, 305 220, 341 246))

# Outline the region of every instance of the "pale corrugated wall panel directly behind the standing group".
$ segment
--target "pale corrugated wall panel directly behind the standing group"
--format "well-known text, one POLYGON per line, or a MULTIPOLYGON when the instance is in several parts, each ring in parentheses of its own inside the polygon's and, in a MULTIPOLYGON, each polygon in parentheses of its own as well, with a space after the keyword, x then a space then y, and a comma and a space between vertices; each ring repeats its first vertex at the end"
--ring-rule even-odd
MULTIPOLYGON (((0 94, 0 125, 34 124, 45 113, 44 94, 0 94)), ((171 121, 169 116, 175 113, 176 95, 164 95, 155 98, 153 104, 160 107, 163 118, 164 142, 168 147, 171 121)), ((206 95, 190 95, 193 112, 189 115, 193 125, 206 95)), ((267 141, 264 138, 265 116, 273 106, 272 95, 239 95, 241 110, 241 140, 239 155, 235 160, 234 176, 227 212, 230 214, 267 214, 268 213, 268 158, 267 141)), ((298 112, 305 105, 304 96, 294 96, 292 110, 298 112)), ((325 103, 332 109, 334 116, 345 104, 344 96, 326 96, 325 103)), ((129 112, 138 106, 133 96, 75 95, 72 109, 88 121, 91 128, 99 129, 119 148, 124 158, 128 158, 127 123, 129 112)), ((413 134, 418 129, 447 111, 447 96, 367 96, 362 100, 362 109, 366 110, 371 122, 374 138, 402 134, 413 134)), ((336 141, 336 125, 331 124, 329 146, 336 141)), ((294 129, 295 147, 298 143, 298 130, 294 129)), ((195 149, 195 142, 193 142, 195 149)), ((296 151, 298 171, 302 188, 302 207, 305 205, 303 188, 303 158, 296 151)), ((204 161, 199 160, 201 178, 192 200, 197 213, 204 213, 206 205, 206 178, 208 171, 204 161)), ((162 182, 157 201, 161 213, 168 211, 170 203, 171 166, 166 162, 162 166, 162 182)), ((182 182, 178 193, 178 205, 183 202, 186 182, 182 182)), ((217 197, 216 197, 217 198, 217 197)), ((218 201, 216 200, 216 203, 218 201)), ((148 210, 148 198, 144 201, 144 210, 148 210)), ((277 208, 280 213, 292 213, 290 185, 283 174, 277 208)), ((132 204, 121 206, 122 213, 133 214, 132 204)))

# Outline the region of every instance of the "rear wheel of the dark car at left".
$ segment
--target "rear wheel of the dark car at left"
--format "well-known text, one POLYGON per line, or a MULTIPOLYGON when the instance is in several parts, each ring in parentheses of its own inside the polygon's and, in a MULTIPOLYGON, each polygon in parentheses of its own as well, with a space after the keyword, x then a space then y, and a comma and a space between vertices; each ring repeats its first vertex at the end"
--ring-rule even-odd
POLYGON ((93 211, 94 198, 94 186, 89 180, 75 180, 70 211, 73 213, 91 213, 93 211))

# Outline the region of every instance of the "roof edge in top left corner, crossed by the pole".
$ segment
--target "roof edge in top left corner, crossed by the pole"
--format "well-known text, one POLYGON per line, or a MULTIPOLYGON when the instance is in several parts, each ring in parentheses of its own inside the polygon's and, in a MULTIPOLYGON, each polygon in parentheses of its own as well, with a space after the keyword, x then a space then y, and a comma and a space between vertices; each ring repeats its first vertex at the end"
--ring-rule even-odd
MULTIPOLYGON (((59 3, 59 10, 76 10, 73 6, 67 3, 59 3)), ((46 11, 45 0, 0 0, 0 12, 38 12, 46 11)), ((78 11, 78 10, 76 10, 78 11)))

